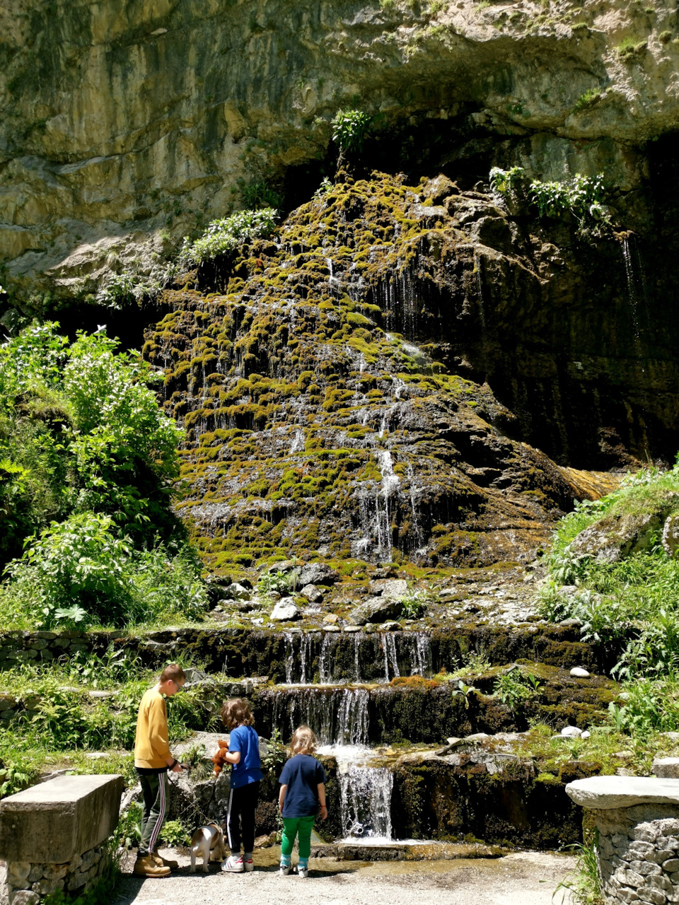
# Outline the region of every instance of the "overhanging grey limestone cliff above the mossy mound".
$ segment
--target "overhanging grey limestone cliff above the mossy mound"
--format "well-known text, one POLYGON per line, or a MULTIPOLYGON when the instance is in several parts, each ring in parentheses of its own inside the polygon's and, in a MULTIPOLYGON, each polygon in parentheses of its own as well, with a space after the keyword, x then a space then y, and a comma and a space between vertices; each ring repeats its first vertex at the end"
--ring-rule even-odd
POLYGON ((645 143, 679 125, 677 62, 676 11, 655 0, 15 0, 2 281, 23 306, 86 297, 238 205, 239 179, 299 203, 347 105, 379 115, 366 153, 384 169, 606 170, 627 225, 648 226, 645 143))

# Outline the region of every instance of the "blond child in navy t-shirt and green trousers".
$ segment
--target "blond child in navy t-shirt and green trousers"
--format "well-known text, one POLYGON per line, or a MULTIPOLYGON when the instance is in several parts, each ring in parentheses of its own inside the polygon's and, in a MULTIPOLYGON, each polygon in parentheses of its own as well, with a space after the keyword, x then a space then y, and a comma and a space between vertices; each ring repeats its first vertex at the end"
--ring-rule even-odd
POLYGON ((295 836, 300 837, 300 862, 297 872, 301 877, 309 876, 309 856, 311 855, 311 830, 320 805, 320 819, 326 820, 328 808, 325 804, 325 771, 312 757, 316 750, 316 736, 308 726, 300 726, 292 734, 290 760, 282 768, 279 782, 281 794, 278 807, 282 814, 283 832, 281 842, 281 873, 290 873, 290 857, 295 836))

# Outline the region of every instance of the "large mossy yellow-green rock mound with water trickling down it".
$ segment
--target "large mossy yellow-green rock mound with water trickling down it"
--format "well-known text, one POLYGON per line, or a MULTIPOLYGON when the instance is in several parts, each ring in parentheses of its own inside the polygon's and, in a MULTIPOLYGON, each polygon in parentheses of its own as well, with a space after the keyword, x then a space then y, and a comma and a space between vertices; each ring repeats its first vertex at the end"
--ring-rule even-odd
POLYGON ((463 216, 456 189, 449 207, 422 191, 339 182, 200 291, 163 293, 144 353, 186 427, 178 508, 209 569, 310 551, 483 566, 542 547, 569 507, 568 475, 509 439, 516 417, 461 357, 491 295, 538 305, 540 278, 462 227, 504 224, 492 198, 463 216))

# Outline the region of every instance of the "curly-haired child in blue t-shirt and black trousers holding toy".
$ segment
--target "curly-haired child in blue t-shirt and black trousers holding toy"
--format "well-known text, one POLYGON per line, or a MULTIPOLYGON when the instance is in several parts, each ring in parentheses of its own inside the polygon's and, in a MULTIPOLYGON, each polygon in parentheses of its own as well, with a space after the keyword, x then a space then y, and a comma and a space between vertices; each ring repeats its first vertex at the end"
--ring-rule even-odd
POLYGON ((229 730, 229 750, 225 761, 233 764, 231 790, 226 811, 226 838, 231 854, 222 863, 229 873, 253 871, 254 812, 257 809, 262 765, 259 759, 259 738, 253 728, 250 705, 242 698, 225 700, 222 722, 229 730), (243 857, 241 857, 243 834, 243 857))

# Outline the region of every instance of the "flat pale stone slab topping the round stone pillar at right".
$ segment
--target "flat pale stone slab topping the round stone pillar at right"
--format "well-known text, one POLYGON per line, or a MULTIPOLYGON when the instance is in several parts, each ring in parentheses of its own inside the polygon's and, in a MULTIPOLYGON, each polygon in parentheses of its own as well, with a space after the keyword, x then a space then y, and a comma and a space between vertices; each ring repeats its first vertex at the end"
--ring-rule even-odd
POLYGON ((595 810, 634 805, 679 805, 679 779, 591 776, 569 783, 566 791, 576 805, 595 810))

